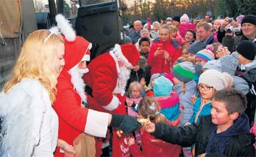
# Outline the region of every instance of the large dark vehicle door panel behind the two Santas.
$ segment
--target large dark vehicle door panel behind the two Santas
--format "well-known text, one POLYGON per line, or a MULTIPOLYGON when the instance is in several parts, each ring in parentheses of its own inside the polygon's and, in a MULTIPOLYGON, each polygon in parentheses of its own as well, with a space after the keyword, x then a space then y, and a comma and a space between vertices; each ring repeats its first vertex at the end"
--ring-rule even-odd
POLYGON ((114 44, 122 42, 121 16, 118 8, 115 1, 79 8, 75 29, 77 35, 93 44, 90 50, 92 59, 108 52, 114 44))

